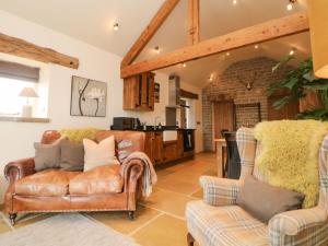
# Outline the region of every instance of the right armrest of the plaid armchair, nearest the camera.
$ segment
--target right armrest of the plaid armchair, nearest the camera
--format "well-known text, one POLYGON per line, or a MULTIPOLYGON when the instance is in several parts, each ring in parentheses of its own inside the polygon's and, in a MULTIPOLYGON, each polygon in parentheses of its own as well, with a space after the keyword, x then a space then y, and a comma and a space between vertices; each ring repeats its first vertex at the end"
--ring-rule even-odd
POLYGON ((293 210, 274 215, 269 222, 270 237, 277 234, 295 236, 303 230, 327 223, 327 212, 320 208, 293 210))

